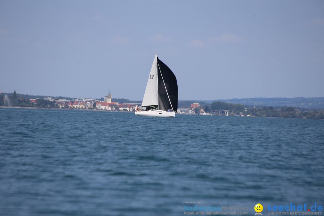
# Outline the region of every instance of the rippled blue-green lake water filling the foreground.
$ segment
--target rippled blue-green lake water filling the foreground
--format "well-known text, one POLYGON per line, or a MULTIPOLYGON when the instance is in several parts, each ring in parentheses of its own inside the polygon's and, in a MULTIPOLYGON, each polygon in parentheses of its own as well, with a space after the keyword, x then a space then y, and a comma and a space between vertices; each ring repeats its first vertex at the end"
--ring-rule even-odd
POLYGON ((0 108, 0 215, 254 215, 257 203, 263 215, 324 205, 323 120, 0 108))

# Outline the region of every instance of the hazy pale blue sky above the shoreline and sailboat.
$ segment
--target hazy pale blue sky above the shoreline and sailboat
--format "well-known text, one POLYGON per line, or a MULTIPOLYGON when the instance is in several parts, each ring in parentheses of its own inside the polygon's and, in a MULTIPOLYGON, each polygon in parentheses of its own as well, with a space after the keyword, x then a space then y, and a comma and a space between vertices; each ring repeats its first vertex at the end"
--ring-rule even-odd
POLYGON ((0 91, 142 100, 324 97, 324 1, 0 1, 0 91))

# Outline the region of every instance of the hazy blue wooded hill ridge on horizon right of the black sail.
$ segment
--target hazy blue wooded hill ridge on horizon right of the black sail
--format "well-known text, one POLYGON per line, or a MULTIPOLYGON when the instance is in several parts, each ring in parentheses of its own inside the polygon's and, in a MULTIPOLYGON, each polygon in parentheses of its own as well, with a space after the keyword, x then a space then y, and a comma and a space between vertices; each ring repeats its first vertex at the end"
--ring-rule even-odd
MULTIPOLYGON (((184 100, 179 100, 183 102, 184 100)), ((232 104, 256 105, 256 106, 287 106, 287 107, 301 107, 301 108, 324 108, 324 97, 254 97, 242 99, 220 99, 220 100, 195 100, 195 102, 203 102, 211 104, 214 101, 221 101, 232 104)))

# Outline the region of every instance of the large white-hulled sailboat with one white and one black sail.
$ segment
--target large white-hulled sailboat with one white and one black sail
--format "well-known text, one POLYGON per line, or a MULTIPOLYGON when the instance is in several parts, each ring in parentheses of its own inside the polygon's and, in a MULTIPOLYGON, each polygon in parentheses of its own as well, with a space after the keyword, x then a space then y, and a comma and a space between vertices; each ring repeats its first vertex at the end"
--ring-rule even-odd
POLYGON ((148 77, 141 110, 135 108, 135 116, 174 117, 178 110, 178 83, 170 68, 155 54, 148 77))

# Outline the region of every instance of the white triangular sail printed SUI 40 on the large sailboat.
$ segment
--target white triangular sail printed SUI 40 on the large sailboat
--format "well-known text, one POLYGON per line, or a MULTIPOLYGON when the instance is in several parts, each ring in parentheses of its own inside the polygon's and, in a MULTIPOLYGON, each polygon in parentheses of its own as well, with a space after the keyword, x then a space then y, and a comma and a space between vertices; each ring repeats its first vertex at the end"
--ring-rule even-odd
POLYGON ((156 55, 153 61, 153 65, 151 68, 151 73, 148 77, 145 94, 142 102, 143 106, 151 106, 151 105, 158 105, 158 98, 157 98, 157 68, 156 68, 156 55))

